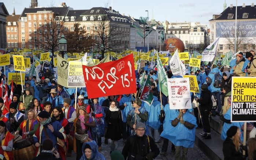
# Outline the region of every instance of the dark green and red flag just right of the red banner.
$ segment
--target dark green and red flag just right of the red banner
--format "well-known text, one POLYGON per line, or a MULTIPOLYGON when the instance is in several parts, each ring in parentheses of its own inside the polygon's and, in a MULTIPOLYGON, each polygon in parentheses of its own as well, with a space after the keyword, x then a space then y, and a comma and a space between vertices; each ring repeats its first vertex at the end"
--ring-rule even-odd
POLYGON ((140 100, 144 101, 149 106, 153 103, 153 92, 151 88, 150 76, 147 76, 147 80, 144 84, 140 100))

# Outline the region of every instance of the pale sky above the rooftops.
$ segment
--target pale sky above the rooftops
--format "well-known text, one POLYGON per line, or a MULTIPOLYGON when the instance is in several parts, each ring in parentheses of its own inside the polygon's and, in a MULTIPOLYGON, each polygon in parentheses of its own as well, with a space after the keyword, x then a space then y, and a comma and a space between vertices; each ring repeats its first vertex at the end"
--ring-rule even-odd
MULTIPOLYGON (((31 0, 0 0, 4 2, 9 14, 15 7, 16 14, 21 14, 23 9, 29 8, 31 0)), ((92 7, 109 7, 119 11, 120 14, 130 15, 134 18, 146 17, 149 11, 149 19, 154 15, 156 21, 165 22, 200 22, 209 26, 209 20, 213 14, 223 11, 225 0, 37 0, 42 7, 58 7, 63 1, 74 10, 88 10, 92 7)), ((237 0, 237 4, 251 5, 255 0, 237 0)), ((235 0, 226 0, 227 7, 235 6, 235 0)))

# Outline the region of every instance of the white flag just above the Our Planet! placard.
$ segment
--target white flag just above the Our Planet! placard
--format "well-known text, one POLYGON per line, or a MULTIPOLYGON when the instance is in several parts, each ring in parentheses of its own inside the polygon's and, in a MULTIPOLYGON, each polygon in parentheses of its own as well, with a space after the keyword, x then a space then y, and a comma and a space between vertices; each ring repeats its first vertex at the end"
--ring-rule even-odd
POLYGON ((176 51, 173 54, 171 60, 169 61, 172 74, 175 77, 178 76, 178 75, 180 75, 180 76, 183 75, 180 63, 182 63, 182 62, 180 61, 180 58, 179 58, 178 49, 176 49, 176 51))

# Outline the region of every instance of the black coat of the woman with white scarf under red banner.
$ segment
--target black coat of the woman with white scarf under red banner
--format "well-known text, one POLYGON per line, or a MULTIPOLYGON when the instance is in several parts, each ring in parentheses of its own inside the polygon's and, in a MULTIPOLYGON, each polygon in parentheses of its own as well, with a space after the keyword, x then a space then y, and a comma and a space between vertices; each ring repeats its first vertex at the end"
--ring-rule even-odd
POLYGON ((106 111, 107 132, 105 138, 118 141, 122 138, 122 114, 121 111, 106 111))

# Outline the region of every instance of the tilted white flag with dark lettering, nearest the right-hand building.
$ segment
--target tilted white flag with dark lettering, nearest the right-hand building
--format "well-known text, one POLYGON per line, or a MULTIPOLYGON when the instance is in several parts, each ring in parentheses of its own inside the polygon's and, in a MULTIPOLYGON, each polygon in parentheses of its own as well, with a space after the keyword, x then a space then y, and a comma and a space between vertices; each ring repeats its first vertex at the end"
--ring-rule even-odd
POLYGON ((202 61, 207 61, 207 62, 212 62, 215 55, 216 55, 216 50, 219 42, 218 37, 214 42, 212 42, 210 45, 208 45, 205 50, 202 52, 202 61))

